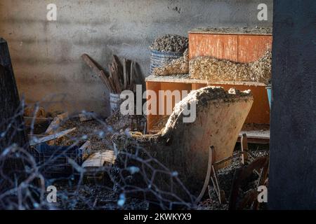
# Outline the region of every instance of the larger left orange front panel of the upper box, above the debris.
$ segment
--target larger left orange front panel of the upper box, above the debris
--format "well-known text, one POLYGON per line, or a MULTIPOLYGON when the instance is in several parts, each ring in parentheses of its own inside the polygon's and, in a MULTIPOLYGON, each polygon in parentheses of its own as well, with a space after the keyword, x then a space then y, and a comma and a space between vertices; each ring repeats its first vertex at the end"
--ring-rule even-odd
POLYGON ((189 34, 189 58, 212 56, 237 62, 238 36, 189 34))

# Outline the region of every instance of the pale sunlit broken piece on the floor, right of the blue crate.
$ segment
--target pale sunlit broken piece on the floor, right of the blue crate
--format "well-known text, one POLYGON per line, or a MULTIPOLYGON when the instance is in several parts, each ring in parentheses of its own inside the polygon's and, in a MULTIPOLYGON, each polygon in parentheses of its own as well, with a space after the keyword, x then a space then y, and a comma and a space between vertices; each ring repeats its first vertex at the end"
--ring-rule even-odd
POLYGON ((115 161, 114 151, 107 150, 104 153, 94 153, 81 165, 82 168, 103 167, 112 165, 115 161))

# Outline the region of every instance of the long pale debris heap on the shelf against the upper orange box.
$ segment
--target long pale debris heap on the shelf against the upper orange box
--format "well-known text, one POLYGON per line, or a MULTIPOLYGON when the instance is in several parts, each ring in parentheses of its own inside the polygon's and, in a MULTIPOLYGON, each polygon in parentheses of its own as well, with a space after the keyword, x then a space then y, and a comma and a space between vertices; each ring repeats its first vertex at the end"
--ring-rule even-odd
POLYGON ((272 53, 265 52, 256 62, 238 63, 214 57, 196 57, 190 61, 190 77, 209 81, 252 81, 268 83, 272 53))

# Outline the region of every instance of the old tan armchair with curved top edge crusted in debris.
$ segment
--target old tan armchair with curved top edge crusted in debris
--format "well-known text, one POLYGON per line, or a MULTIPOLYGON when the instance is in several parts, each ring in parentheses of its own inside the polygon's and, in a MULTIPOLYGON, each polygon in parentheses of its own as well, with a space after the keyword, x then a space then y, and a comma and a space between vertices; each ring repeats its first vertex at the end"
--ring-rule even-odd
MULTIPOLYGON (((119 152, 145 148, 160 164, 178 174, 185 189, 164 172, 146 174, 147 179, 154 179, 150 185, 165 193, 172 192, 184 201, 197 202, 204 195, 211 174, 230 165, 253 102, 250 91, 227 92, 221 87, 204 87, 190 92, 176 104, 166 127, 158 134, 129 137, 119 134, 113 137, 114 144, 119 152), (196 104, 196 119, 183 123, 184 109, 192 103, 196 104)), ((151 166, 150 170, 155 168, 151 166)))

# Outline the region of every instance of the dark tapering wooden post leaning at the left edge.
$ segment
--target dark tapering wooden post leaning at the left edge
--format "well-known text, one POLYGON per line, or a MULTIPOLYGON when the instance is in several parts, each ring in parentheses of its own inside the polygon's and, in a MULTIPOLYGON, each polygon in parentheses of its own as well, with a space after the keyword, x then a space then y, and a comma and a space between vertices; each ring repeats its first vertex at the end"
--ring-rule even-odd
POLYGON ((8 44, 0 38, 0 150, 17 144, 29 148, 8 44), (9 127, 9 128, 8 128, 9 127))

